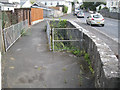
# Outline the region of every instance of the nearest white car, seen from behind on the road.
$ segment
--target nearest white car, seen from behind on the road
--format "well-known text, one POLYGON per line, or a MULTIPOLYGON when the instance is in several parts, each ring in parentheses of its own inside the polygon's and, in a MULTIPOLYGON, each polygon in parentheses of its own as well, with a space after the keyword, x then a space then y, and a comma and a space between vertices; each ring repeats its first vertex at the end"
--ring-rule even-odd
POLYGON ((102 25, 104 26, 104 18, 101 14, 90 14, 90 16, 87 17, 86 23, 90 25, 102 25))

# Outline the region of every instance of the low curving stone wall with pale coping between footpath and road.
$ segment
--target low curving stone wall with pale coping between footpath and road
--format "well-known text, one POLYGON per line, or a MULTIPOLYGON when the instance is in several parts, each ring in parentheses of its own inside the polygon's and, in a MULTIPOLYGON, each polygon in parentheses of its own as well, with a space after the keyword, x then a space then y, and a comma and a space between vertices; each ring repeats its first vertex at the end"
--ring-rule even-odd
MULTIPOLYGON (((69 21, 76 28, 82 28, 73 21, 69 21)), ((85 29, 83 32, 82 48, 90 55, 90 60, 95 72, 96 88, 120 87, 118 59, 111 49, 102 40, 85 29)))

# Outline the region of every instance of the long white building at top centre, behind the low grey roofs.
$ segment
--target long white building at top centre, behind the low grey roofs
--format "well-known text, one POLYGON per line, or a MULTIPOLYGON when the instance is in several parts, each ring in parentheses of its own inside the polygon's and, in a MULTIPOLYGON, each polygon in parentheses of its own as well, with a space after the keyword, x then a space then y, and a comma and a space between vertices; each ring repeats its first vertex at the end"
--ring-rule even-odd
POLYGON ((36 2, 41 2, 42 4, 46 5, 47 7, 56 7, 58 5, 65 5, 68 7, 68 12, 72 12, 72 4, 71 0, 36 0, 36 2))

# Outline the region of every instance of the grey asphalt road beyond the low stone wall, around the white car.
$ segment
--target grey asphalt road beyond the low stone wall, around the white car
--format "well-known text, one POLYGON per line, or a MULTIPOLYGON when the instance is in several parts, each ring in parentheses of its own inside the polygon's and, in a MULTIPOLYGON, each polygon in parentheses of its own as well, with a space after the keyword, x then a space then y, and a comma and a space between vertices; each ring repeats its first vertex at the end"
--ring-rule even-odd
POLYGON ((89 16, 89 13, 85 12, 84 18, 77 18, 76 16, 69 14, 62 17, 62 19, 69 19, 69 20, 75 21, 81 27, 85 28, 86 30, 92 32, 97 37, 102 39, 107 45, 109 45, 109 47, 115 53, 115 55, 118 55, 118 36, 120 35, 118 31, 118 20, 104 17, 105 19, 104 27, 97 26, 97 25, 90 26, 86 24, 87 16, 89 16))

